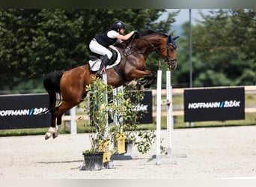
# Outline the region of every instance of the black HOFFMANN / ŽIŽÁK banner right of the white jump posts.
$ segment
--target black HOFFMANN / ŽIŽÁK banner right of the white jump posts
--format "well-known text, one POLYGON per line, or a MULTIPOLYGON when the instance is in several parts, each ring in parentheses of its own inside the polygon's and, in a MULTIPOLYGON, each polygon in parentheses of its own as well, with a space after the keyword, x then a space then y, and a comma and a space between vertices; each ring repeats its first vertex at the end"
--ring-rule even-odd
POLYGON ((184 121, 245 119, 245 89, 184 90, 184 121))

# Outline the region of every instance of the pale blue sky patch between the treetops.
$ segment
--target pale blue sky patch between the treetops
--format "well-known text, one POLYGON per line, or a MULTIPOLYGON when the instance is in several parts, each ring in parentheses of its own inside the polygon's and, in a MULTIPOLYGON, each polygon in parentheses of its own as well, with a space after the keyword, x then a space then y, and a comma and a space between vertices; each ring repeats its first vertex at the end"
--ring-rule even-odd
MULTIPOLYGON (((174 22, 174 25, 180 25, 184 22, 189 22, 189 9, 166 9, 168 12, 174 12, 177 10, 180 10, 180 13, 175 17, 176 22, 174 22)), ((201 10, 204 14, 207 14, 211 9, 192 9, 191 10, 191 19, 192 24, 195 24, 195 19, 202 20, 200 14, 198 11, 201 10)), ((159 19, 165 19, 167 16, 167 13, 164 13, 159 19)))

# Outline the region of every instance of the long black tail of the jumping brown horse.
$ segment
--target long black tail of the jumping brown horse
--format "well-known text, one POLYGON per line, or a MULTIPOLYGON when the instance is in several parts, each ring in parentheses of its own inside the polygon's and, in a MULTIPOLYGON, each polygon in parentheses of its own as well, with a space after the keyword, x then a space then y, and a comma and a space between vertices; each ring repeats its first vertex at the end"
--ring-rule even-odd
POLYGON ((58 93, 61 96, 60 82, 62 75, 63 73, 59 71, 52 72, 49 73, 49 75, 46 76, 46 78, 43 80, 44 88, 49 93, 49 112, 51 112, 55 108, 57 101, 56 93, 58 93))

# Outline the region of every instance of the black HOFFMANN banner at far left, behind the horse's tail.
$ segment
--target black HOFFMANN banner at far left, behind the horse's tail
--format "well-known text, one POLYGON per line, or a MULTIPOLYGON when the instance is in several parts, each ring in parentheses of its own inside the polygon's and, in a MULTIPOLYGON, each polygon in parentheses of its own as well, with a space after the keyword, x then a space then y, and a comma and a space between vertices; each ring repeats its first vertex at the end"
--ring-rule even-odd
POLYGON ((49 127, 51 114, 44 114, 49 105, 48 94, 0 96, 0 129, 49 127))

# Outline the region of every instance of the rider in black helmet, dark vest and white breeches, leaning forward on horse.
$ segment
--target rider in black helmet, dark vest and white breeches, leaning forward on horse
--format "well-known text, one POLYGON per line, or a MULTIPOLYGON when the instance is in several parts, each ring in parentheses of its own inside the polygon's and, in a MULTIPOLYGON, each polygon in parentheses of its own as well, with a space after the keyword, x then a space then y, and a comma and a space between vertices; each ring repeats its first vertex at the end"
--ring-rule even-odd
POLYGON ((126 29, 126 25, 122 21, 116 21, 112 28, 108 29, 103 34, 97 34, 90 42, 89 48, 91 52, 95 52, 99 55, 104 55, 103 60, 100 64, 100 70, 97 71, 96 76, 101 77, 101 73, 103 71, 103 67, 108 64, 109 60, 112 58, 112 52, 108 49, 108 47, 115 42, 121 42, 122 40, 128 40, 135 31, 129 32, 129 34, 124 34, 126 29))

